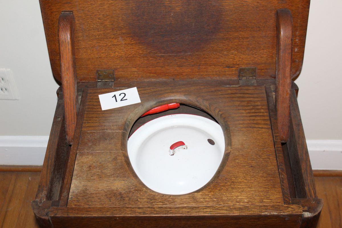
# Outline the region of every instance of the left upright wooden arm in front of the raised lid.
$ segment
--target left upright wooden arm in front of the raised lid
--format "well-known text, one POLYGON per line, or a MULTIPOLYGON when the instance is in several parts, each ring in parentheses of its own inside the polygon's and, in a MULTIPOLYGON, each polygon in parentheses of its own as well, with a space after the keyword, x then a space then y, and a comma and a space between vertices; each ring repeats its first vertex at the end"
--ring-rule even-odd
POLYGON ((74 21, 72 12, 62 12, 58 19, 58 42, 64 97, 64 118, 66 137, 70 145, 73 141, 78 109, 74 21))

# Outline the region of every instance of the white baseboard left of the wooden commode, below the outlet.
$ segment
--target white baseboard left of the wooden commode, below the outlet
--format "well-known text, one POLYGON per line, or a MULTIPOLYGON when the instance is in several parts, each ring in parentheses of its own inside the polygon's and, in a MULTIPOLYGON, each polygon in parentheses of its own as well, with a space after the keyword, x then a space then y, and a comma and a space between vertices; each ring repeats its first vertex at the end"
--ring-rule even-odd
POLYGON ((49 136, 0 136, 0 165, 42 165, 49 136))

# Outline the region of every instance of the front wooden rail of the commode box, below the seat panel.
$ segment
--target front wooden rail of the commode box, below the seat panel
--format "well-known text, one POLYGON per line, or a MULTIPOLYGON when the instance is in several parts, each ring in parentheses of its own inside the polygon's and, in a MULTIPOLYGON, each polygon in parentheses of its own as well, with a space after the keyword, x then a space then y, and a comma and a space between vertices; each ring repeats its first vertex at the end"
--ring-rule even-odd
POLYGON ((300 211, 301 207, 292 205, 280 205, 272 209, 263 205, 250 207, 236 205, 180 206, 171 210, 165 206, 103 207, 102 209, 96 207, 86 210, 77 207, 64 207, 52 208, 51 220, 54 227, 63 227, 67 225, 65 218, 70 213, 75 213, 76 216, 71 218, 71 224, 74 227, 227 227, 227 224, 229 227, 299 227, 301 214, 293 213, 300 211), (258 216, 260 218, 260 215, 256 214, 260 212, 264 212, 264 214, 261 219, 257 219, 258 216), (241 216, 246 213, 249 215, 241 216), (100 214, 101 219, 96 217, 100 214), (153 220, 148 218, 150 215, 154 216, 153 220), (96 222, 94 223, 93 220, 96 222))

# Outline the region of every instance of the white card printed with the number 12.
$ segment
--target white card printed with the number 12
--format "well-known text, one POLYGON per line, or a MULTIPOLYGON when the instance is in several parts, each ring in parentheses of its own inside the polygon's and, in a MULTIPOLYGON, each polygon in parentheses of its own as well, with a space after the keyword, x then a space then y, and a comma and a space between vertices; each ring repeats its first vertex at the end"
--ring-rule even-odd
POLYGON ((140 103, 136 87, 98 95, 102 110, 140 103))

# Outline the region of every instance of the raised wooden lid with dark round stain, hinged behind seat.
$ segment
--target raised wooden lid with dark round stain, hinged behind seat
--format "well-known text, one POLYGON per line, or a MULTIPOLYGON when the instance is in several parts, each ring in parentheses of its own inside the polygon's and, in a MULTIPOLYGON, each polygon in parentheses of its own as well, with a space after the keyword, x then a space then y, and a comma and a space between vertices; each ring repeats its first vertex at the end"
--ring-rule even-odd
POLYGON ((293 16, 292 77, 304 55, 310 0, 40 0, 54 77, 58 17, 73 11, 79 82, 114 69, 120 81, 237 79, 240 67, 275 77, 276 10, 293 16))

